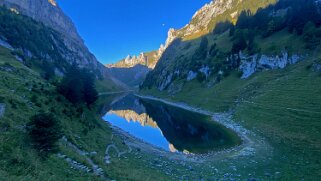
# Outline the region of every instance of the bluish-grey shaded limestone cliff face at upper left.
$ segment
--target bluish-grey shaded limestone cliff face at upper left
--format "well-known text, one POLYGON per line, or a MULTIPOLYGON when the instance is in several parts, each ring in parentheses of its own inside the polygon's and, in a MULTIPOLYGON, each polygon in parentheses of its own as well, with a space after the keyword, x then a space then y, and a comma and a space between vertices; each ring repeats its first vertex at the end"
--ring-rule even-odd
POLYGON ((0 5, 18 14, 29 16, 59 32, 69 49, 63 53, 68 62, 76 62, 81 67, 98 69, 105 73, 104 66, 89 52, 76 27, 55 0, 0 0, 0 5))

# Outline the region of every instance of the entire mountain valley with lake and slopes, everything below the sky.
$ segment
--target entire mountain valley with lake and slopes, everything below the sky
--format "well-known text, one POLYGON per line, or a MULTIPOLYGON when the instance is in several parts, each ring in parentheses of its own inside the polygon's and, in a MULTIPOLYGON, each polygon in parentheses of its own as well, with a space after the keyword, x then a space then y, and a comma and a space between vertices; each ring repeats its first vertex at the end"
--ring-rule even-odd
POLYGON ((321 176, 320 1, 209 1, 112 64, 59 3, 0 0, 0 180, 321 176))

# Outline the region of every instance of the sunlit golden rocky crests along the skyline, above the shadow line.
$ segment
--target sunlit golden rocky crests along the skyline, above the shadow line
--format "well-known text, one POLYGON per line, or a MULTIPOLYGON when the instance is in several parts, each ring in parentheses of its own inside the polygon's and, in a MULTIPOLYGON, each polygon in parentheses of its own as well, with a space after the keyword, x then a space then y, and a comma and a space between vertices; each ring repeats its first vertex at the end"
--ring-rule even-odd
MULTIPOLYGON (((266 7, 271 3, 275 3, 277 0, 268 0, 258 2, 251 11, 255 12, 258 7, 266 7)), ((181 29, 170 28, 167 33, 167 39, 165 44, 161 45, 158 50, 156 50, 157 56, 155 56, 155 63, 149 68, 154 69, 155 65, 162 57, 163 53, 170 46, 171 43, 177 38, 190 40, 201 37, 213 31, 216 21, 221 20, 230 20, 236 22, 238 16, 243 10, 243 6, 247 7, 248 4, 252 2, 249 0, 211 0, 209 3, 206 3, 202 8, 200 8, 190 22, 186 24, 181 29), (240 8, 238 8, 240 7, 240 8)), ((134 57, 133 57, 134 58, 134 57)), ((124 67, 124 59, 114 64, 113 67, 124 67)), ((126 66, 134 66, 136 64, 141 64, 142 60, 136 61, 133 59, 132 64, 125 64, 126 66)))

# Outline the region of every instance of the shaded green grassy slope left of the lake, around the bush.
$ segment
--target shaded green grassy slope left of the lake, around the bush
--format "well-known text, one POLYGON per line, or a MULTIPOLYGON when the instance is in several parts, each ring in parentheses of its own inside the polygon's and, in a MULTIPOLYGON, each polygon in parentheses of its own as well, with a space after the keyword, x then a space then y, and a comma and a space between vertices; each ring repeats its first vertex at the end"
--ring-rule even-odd
MULTIPOLYGON (((95 106, 97 108, 85 109, 82 119, 73 105, 63 98, 57 101, 59 94, 53 85, 41 79, 38 72, 16 61, 8 50, 0 47, 0 66, 8 66, 8 63, 13 67, 12 72, 0 70, 0 101, 6 104, 5 115, 0 119, 0 180, 100 180, 92 173, 72 169, 56 155, 47 160, 41 160, 37 156, 28 144, 24 126, 40 110, 50 110, 58 117, 65 136, 73 144, 87 152, 97 152, 92 160, 103 168, 106 177, 117 180, 166 179, 162 173, 152 170, 131 154, 126 155, 127 159, 113 160, 111 165, 104 164, 104 153, 107 144, 111 143, 112 133, 97 112, 98 107, 101 107, 100 103, 108 102, 112 97, 99 100, 95 106), (29 90, 32 87, 34 90, 29 90), (30 102, 32 95, 37 96, 37 104, 30 102)), ((114 143, 120 148, 124 147, 121 139, 116 136, 114 143)), ((61 153, 90 166, 83 156, 62 142, 59 145, 61 153)))

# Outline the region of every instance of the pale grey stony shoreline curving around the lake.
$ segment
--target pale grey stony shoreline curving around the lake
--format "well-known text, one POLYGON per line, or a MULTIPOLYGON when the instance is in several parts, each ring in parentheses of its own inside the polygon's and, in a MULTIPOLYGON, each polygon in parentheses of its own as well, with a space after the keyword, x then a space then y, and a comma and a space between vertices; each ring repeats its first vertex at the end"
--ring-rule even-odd
MULTIPOLYGON (((206 162, 215 159, 222 159, 226 157, 237 157, 237 156, 252 156, 256 154, 256 149, 260 147, 262 144, 268 145, 265 143, 265 141, 262 140, 262 138, 257 137, 255 134, 253 134, 251 131, 243 128, 241 125, 235 123, 232 121, 232 115, 231 113, 213 113, 207 110, 203 110, 200 108, 195 108, 192 106, 189 106, 184 103, 175 103, 171 101, 167 101, 164 99, 152 97, 152 96, 143 96, 135 94, 135 96, 142 98, 142 99, 149 99, 153 101, 159 101, 171 106, 179 107, 188 111, 193 111, 196 113, 204 114, 207 116, 212 117, 213 121, 216 121, 225 127, 235 131, 242 139, 242 144, 229 148, 224 149, 221 151, 216 152, 210 152, 206 154, 185 154, 185 153, 171 153, 165 150, 162 150, 160 148, 157 148, 153 145, 150 145, 148 143, 145 143, 143 140, 139 140, 136 137, 130 135, 129 133, 121 130, 120 128, 111 126, 114 133, 120 136, 127 145, 129 145, 132 148, 137 148, 146 151, 147 153, 157 154, 161 155, 163 157, 166 157, 168 159, 174 159, 174 160, 180 160, 180 161, 188 161, 188 162, 206 162)), ((260 148, 259 148, 260 149, 260 148)))

